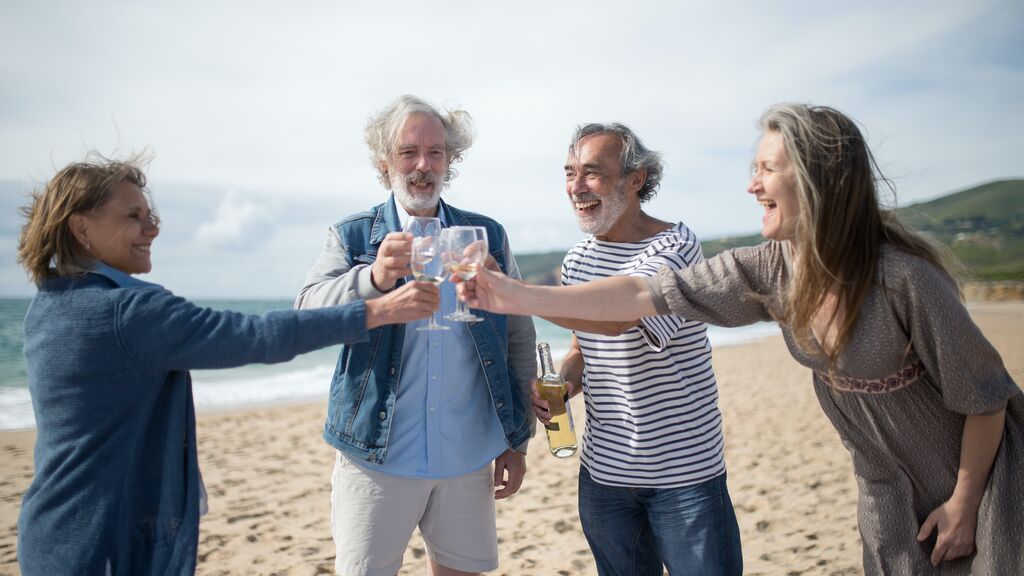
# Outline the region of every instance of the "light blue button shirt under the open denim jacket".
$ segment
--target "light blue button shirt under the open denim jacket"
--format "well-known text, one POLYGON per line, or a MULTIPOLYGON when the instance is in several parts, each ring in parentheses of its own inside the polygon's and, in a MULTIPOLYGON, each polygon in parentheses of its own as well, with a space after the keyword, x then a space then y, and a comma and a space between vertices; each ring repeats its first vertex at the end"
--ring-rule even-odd
MULTIPOLYGON (((409 213, 397 202, 404 227, 409 213)), ((443 220, 441 225, 447 223, 443 220)), ((441 318, 455 310, 455 286, 441 284, 437 322, 450 330, 418 331, 406 325, 394 421, 383 464, 369 469, 413 478, 447 478, 480 468, 508 449, 480 358, 465 322, 441 318)))

